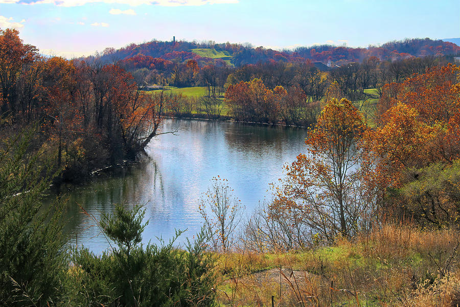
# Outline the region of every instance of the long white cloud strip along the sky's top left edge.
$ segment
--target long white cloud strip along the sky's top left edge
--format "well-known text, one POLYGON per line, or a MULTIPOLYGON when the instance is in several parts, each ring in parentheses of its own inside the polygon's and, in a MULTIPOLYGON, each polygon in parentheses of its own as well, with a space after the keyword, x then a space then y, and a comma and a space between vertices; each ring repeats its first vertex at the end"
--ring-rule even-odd
POLYGON ((87 3, 125 4, 129 6, 200 6, 206 4, 234 4, 239 0, 0 0, 0 4, 54 4, 63 7, 82 6, 87 3))

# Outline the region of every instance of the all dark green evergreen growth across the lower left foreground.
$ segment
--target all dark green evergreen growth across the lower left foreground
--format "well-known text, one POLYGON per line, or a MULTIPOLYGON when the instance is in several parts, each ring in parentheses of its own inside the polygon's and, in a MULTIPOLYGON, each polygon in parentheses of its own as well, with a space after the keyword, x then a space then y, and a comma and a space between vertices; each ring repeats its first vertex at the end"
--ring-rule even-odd
POLYGON ((53 174, 39 166, 42 152, 28 152, 33 136, 27 131, 0 148, 0 305, 213 304, 215 265, 204 235, 187 250, 173 241, 142 246, 141 206, 119 205, 94 221, 111 244, 102 255, 68 247, 64 201, 48 208, 40 202, 53 174))

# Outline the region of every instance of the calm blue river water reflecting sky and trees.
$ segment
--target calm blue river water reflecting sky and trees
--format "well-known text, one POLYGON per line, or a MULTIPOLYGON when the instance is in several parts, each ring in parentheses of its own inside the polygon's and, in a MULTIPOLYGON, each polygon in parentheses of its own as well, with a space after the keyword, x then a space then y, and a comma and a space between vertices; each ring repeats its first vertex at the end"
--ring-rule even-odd
POLYGON ((98 220, 117 203, 145 204, 149 225, 143 243, 158 243, 159 237, 168 242, 175 229, 187 229, 176 241, 183 244, 199 231, 198 201, 217 176, 228 180, 249 216, 259 202, 271 198, 270 183, 283 177, 283 165, 305 151, 307 135, 302 128, 177 119, 166 120, 162 131, 176 127, 177 136, 152 140, 146 149, 150 161, 63 187, 70 198, 66 228, 71 245, 105 250, 107 240, 91 216, 98 220))

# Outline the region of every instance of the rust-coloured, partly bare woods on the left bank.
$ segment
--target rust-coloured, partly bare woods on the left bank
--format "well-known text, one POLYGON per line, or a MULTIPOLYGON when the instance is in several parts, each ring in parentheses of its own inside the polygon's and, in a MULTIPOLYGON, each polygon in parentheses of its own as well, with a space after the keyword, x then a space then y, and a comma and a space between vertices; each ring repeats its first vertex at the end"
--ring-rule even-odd
POLYGON ((56 167, 74 180, 134 159, 168 99, 142 93, 119 65, 42 57, 10 29, 0 30, 0 89, 2 130, 39 123, 56 167))

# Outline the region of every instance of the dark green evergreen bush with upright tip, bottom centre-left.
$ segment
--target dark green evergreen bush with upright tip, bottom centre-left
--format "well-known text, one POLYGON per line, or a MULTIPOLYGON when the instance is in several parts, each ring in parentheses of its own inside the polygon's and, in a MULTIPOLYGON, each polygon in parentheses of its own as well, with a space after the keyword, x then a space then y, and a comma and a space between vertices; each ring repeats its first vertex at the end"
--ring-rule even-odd
MULTIPOLYGON (((86 248, 76 250, 69 293, 77 305, 112 306, 209 306, 214 303, 215 283, 212 255, 205 253, 204 232, 187 250, 169 244, 143 247, 141 234, 145 210, 116 207, 104 216, 101 226, 117 247, 95 255, 86 248), (129 248, 128 248, 129 247, 129 248)), ((180 235, 180 232, 176 234, 180 235)))

